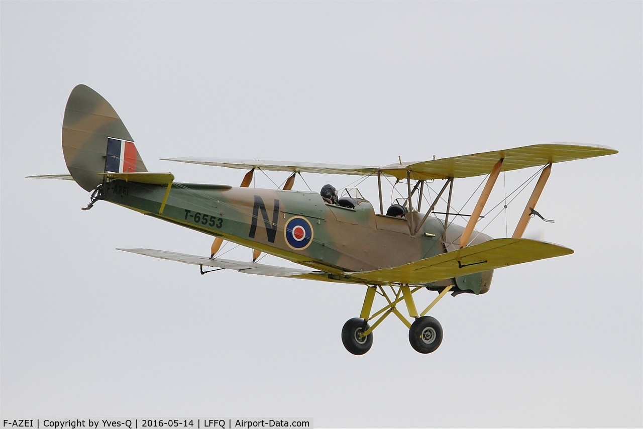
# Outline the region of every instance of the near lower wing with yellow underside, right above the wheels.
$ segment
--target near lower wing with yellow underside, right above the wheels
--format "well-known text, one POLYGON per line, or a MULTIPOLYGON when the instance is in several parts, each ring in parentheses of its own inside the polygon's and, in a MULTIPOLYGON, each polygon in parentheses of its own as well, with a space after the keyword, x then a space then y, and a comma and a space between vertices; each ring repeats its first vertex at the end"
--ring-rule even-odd
POLYGON ((574 251, 543 241, 494 239, 394 268, 345 275, 371 284, 425 284, 570 253, 574 251))

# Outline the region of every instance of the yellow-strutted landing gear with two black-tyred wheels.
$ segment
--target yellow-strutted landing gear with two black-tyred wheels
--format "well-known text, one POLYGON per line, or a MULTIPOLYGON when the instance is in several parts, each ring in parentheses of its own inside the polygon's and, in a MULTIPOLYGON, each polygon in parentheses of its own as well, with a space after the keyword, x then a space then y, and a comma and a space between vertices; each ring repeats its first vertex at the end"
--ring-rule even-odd
MULTIPOLYGON (((387 288, 389 288, 389 286, 387 286, 387 288)), ((384 286, 370 286, 367 289, 359 317, 350 319, 341 329, 341 342, 344 343, 344 347, 346 347, 350 353, 365 354, 373 345, 373 330, 377 325, 381 324, 388 315, 393 314, 409 328, 408 340, 415 351, 423 354, 434 352, 442 343, 442 325, 440 325, 437 319, 425 315, 452 288, 453 286, 447 286, 442 289, 438 297, 435 298, 422 313, 419 313, 415 307, 413 293, 424 289, 424 287, 418 286, 411 289, 408 285, 390 286, 394 294, 394 296, 391 297, 386 293, 384 286), (371 313, 375 295, 384 297, 388 304, 379 311, 371 313), (409 322, 399 309, 397 309, 397 304, 403 301, 404 304, 406 304, 408 315, 412 319, 415 319, 413 323, 409 322), (372 327, 368 325, 368 322, 377 316, 379 316, 379 318, 373 323, 372 327)))

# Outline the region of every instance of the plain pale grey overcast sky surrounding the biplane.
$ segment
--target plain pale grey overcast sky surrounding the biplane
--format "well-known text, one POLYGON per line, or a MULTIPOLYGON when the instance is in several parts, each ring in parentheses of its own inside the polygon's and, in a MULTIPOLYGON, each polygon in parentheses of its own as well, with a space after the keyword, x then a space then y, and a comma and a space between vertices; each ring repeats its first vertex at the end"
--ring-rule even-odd
MULTIPOLYGON (((0 8, 5 418, 643 424, 642 3, 0 8), (179 181, 238 185, 244 172, 158 158, 385 165, 549 141, 620 153, 554 165, 538 210, 556 223, 534 219, 527 233, 574 255, 498 269, 480 297, 446 297, 432 311, 444 327, 433 354, 413 351, 390 318, 352 356, 340 331, 363 288, 201 276, 116 251, 206 255, 211 239, 104 202, 82 212, 89 195, 75 183, 24 179, 67 172, 60 128, 80 83, 111 102, 148 169, 179 181)), ((530 174, 507 174, 507 189, 530 174)), ((314 190, 353 180, 305 179, 314 190)), ((461 182, 460 204, 479 181, 461 182)), ((376 205, 374 183, 360 189, 376 205)), ((525 199, 510 206, 509 234, 525 199)), ((502 236, 503 218, 485 232, 502 236)))

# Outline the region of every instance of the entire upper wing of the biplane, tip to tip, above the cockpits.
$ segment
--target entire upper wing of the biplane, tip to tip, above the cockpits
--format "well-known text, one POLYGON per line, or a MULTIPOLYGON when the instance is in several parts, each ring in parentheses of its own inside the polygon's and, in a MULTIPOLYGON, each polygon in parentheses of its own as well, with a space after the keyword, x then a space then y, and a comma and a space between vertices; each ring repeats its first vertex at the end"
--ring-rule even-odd
POLYGON ((167 161, 179 161, 193 164, 215 165, 231 169, 253 169, 268 171, 325 173, 325 174, 352 174, 356 176, 370 176, 378 171, 382 174, 405 179, 406 172, 410 172, 412 179, 448 179, 471 178, 489 174, 495 163, 504 159, 504 171, 526 169, 538 165, 547 165, 563 161, 582 160, 616 154, 618 151, 611 147, 601 145, 588 145, 582 143, 543 143, 502 151, 480 152, 477 154, 454 156, 440 160, 404 162, 375 167, 371 165, 341 165, 320 164, 291 161, 261 161, 261 160, 228 160, 223 158, 204 158, 199 156, 186 156, 184 158, 162 158, 167 161))

